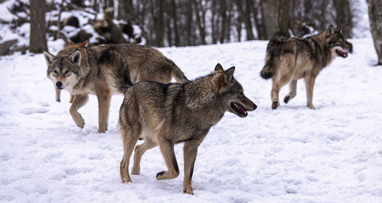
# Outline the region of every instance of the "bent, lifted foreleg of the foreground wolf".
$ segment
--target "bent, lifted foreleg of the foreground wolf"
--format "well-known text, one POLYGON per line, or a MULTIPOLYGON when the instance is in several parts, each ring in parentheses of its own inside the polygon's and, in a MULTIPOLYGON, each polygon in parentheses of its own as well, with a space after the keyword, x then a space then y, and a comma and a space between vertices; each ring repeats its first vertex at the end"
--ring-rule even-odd
MULTIPOLYGON (((157 136, 158 137, 158 136, 157 136)), ((178 162, 176 161, 174 144, 166 139, 159 138, 158 145, 169 171, 162 171, 156 174, 158 180, 168 180, 179 176, 178 162)))

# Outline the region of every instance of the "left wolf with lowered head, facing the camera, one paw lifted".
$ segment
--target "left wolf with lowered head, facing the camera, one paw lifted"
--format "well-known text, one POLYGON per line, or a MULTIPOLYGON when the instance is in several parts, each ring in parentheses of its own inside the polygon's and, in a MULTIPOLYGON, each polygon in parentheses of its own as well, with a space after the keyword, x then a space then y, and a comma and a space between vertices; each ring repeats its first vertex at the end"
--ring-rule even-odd
POLYGON ((47 77, 57 89, 75 95, 70 115, 78 127, 85 125, 78 113, 88 94, 98 98, 98 132, 107 130, 112 94, 124 94, 133 83, 140 81, 186 82, 179 67, 158 50, 135 44, 99 45, 67 49, 58 56, 44 51, 48 65, 47 77))

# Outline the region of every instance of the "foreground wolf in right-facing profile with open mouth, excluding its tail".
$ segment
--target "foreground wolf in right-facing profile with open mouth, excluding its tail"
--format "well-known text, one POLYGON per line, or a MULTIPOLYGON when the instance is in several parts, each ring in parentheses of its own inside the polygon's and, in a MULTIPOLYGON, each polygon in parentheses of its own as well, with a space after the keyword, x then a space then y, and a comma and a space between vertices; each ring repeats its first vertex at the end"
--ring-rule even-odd
POLYGON ((183 192, 193 194, 191 178, 198 146, 208 130, 225 112, 246 117, 257 106, 243 93, 233 78, 235 67, 215 70, 183 84, 141 82, 130 87, 119 113, 119 132, 124 155, 120 173, 122 182, 131 182, 129 160, 138 138, 145 142, 135 147, 132 175, 140 174, 140 161, 146 150, 159 145, 168 171, 157 173, 156 179, 168 180, 179 175, 174 145, 184 143, 183 192))

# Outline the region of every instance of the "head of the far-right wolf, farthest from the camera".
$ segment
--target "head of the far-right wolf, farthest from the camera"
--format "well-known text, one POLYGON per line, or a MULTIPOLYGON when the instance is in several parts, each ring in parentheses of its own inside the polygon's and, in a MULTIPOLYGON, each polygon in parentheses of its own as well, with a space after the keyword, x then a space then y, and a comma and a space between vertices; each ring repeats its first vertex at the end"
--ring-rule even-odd
POLYGON ((341 27, 335 29, 333 25, 330 25, 325 31, 325 42, 331 49, 333 55, 346 58, 347 53, 351 53, 353 51, 353 46, 345 40, 342 36, 341 30, 341 27))

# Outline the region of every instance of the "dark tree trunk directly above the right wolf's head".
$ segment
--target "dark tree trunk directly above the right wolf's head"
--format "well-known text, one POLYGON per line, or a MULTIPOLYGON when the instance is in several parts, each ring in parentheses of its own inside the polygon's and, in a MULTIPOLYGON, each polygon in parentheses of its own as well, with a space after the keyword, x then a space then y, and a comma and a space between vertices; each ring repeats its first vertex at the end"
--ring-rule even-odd
MULTIPOLYGON (((380 1, 380 0, 379 0, 380 1)), ((342 27, 342 35, 345 38, 351 38, 352 29, 352 15, 350 10, 349 0, 333 0, 334 7, 336 8, 336 24, 342 27)))

